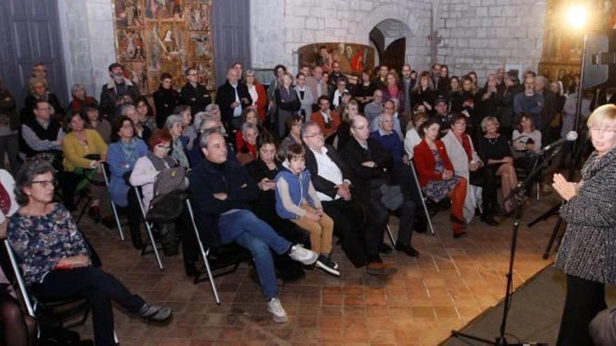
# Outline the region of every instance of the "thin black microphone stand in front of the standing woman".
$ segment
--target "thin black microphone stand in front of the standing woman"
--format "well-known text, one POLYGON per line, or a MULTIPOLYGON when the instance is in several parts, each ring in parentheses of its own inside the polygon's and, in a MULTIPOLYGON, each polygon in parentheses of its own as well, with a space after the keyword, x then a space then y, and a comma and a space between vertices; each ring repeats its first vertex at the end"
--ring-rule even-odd
POLYGON ((503 319, 500 322, 500 333, 494 340, 488 340, 484 338, 479 338, 478 336, 472 336, 470 334, 461 333, 460 331, 451 331, 451 336, 454 338, 466 338, 470 340, 479 341, 480 343, 484 343, 487 345, 495 345, 495 346, 522 346, 522 343, 508 343, 507 338, 505 338, 505 331, 507 329, 507 315, 509 314, 509 308, 511 305, 511 298, 513 294, 513 262, 515 259, 515 250, 517 245, 517 233, 519 229, 519 223, 522 214, 522 206, 524 206, 524 192, 526 184, 533 181, 536 175, 538 175, 543 168, 549 166, 549 161, 551 161, 556 154, 558 154, 560 147, 556 147, 552 152, 549 152, 543 162, 535 167, 531 173, 526 176, 523 182, 518 182, 517 186, 510 192, 509 196, 505 198, 505 201, 512 200, 514 203, 514 217, 512 222, 512 232, 511 232, 511 250, 509 257, 509 271, 507 271, 507 289, 505 290, 505 301, 503 303, 503 319))

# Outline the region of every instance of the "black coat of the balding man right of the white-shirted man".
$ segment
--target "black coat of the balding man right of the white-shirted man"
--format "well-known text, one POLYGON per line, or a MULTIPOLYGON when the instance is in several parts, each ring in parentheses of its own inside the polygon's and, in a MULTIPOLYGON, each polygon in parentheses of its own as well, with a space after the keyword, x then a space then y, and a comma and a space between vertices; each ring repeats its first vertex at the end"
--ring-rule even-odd
POLYGON ((379 187, 383 182, 390 181, 389 171, 393 167, 390 152, 371 138, 368 138, 367 143, 368 150, 364 150, 355 138, 351 138, 340 152, 355 177, 353 193, 365 205, 370 201, 371 187, 379 187), (365 161, 374 161, 377 166, 363 166, 365 161))

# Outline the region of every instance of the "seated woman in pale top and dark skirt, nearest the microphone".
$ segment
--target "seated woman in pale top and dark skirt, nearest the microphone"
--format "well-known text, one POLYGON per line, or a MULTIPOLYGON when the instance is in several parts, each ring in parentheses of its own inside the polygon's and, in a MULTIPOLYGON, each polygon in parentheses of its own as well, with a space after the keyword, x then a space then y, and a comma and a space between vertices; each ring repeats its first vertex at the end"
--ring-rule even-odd
MULTIPOLYGON (((533 117, 524 112, 517 118, 516 129, 513 130, 511 141, 513 143, 513 166, 522 168, 526 174, 530 174, 534 168, 543 161, 539 152, 541 151, 541 131, 535 129, 533 117)), ((533 183, 542 182, 541 173, 526 185, 526 196, 531 196, 533 183)), ((549 192, 549 187, 544 185, 544 192, 549 192)))

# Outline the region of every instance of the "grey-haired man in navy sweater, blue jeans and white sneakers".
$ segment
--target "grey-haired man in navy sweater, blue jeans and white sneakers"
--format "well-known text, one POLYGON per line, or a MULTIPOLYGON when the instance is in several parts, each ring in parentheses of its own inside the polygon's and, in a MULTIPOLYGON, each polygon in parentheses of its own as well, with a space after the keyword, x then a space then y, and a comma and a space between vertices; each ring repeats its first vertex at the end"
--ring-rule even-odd
POLYGON ((250 211, 249 203, 258 199, 259 189, 244 167, 228 161, 225 138, 218 129, 204 131, 200 146, 205 159, 190 174, 189 187, 197 215, 195 222, 199 228, 214 228, 222 243, 235 242, 251 252, 267 310, 275 322, 286 322, 288 316, 278 298, 271 251, 288 253, 306 265, 313 264, 317 256, 279 236, 250 211), (213 222, 208 224, 205 219, 213 222))

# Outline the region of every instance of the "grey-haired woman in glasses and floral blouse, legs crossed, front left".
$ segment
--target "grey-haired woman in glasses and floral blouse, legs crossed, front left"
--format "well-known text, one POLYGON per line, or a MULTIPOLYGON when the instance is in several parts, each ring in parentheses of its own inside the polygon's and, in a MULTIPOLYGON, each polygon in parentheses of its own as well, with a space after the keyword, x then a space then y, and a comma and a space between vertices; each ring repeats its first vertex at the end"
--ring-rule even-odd
POLYGON ((148 321, 169 319, 171 308, 146 303, 116 277, 92 266, 91 250, 70 212, 53 202, 53 171, 48 161, 31 159, 15 179, 21 208, 10 217, 8 242, 31 292, 39 298, 85 297, 92 311, 96 345, 117 345, 112 300, 148 321))

